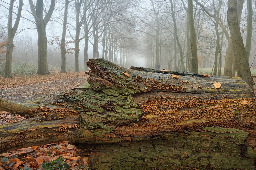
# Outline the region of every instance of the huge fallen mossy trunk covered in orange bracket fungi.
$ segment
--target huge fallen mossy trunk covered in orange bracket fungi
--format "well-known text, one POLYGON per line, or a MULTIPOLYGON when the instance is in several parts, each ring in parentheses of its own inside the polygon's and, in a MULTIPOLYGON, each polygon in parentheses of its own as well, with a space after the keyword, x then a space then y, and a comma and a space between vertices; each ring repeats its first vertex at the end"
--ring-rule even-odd
POLYGON ((91 169, 253 168, 255 101, 240 78, 87 65, 78 88, 11 108, 0 100, 0 110, 28 117, 0 125, 0 153, 69 140, 91 169))

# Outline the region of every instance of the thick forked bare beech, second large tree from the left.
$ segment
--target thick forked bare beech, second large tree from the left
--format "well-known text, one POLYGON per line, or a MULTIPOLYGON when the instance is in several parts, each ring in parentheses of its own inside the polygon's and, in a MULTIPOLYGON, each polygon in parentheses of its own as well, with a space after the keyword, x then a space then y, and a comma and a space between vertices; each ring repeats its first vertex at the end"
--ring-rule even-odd
POLYGON ((47 63, 47 36, 46 25, 49 22, 55 7, 55 0, 51 0, 50 8, 43 17, 44 0, 37 0, 34 5, 33 0, 29 0, 30 9, 34 16, 37 29, 37 46, 38 46, 38 70, 37 74, 50 74, 47 63))

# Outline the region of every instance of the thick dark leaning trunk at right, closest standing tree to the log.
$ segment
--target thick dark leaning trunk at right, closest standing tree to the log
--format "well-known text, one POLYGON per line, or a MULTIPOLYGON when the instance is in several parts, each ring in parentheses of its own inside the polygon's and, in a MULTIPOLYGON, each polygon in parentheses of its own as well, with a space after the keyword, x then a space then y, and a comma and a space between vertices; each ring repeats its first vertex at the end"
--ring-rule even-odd
POLYGON ((227 22, 233 40, 232 45, 234 49, 234 58, 236 60, 236 68, 238 70, 238 74, 253 89, 254 82, 240 32, 236 0, 228 0, 227 22))

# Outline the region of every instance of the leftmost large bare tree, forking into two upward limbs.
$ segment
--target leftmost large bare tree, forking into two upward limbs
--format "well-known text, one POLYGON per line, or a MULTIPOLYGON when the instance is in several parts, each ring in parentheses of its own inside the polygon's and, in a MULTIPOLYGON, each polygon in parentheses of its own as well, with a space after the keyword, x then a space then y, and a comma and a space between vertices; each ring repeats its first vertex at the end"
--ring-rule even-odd
POLYGON ((15 0, 10 1, 9 6, 9 15, 8 15, 8 37, 7 37, 7 44, 6 44, 6 55, 5 55, 5 68, 4 68, 4 77, 12 77, 12 57, 13 57, 13 39, 17 32, 20 17, 21 17, 21 11, 23 6, 23 0, 19 0, 19 6, 18 6, 18 13, 15 20, 15 23, 13 24, 13 4, 15 0))

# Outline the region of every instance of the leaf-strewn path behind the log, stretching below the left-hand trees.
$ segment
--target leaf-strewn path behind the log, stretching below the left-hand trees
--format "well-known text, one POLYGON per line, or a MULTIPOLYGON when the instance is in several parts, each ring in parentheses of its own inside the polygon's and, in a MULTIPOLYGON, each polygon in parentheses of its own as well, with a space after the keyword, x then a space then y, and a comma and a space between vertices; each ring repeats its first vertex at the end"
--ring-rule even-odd
POLYGON ((50 75, 0 76, 0 97, 16 102, 47 97, 78 87, 87 81, 89 76, 84 72, 58 73, 50 75))

